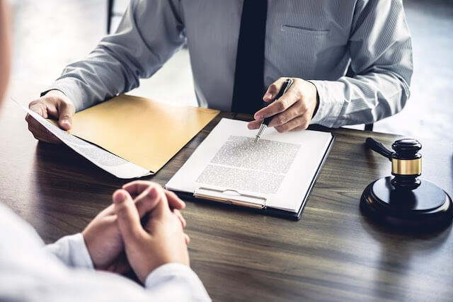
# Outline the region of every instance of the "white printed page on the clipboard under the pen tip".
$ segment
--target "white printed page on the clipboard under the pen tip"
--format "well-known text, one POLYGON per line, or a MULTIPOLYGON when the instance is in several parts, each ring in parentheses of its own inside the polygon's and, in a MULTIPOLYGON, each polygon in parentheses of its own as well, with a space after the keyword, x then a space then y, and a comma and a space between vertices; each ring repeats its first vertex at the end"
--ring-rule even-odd
POLYGON ((265 207, 297 213, 332 135, 268 128, 255 142, 257 131, 248 130, 247 122, 222 119, 166 188, 189 193, 207 188, 218 197, 235 192, 262 199, 265 207))

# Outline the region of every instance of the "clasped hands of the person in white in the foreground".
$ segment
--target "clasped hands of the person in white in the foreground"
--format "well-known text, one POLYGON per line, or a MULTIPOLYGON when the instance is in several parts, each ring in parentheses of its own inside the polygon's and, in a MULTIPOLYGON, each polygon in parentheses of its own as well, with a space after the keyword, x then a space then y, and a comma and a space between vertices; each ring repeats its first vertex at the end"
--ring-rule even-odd
POLYGON ((189 265, 184 207, 176 194, 154 182, 124 185, 82 232, 94 267, 119 274, 132 268, 144 283, 161 265, 189 265))

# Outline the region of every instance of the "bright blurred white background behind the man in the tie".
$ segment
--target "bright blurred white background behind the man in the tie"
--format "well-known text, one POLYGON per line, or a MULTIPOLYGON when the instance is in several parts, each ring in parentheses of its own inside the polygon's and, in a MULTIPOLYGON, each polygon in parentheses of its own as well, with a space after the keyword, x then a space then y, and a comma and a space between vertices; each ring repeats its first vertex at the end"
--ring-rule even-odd
MULTIPOLYGON (((13 73, 9 94, 26 104, 38 98, 64 66, 83 58, 106 34, 108 0, 12 3, 13 73)), ((113 32, 127 4, 127 0, 115 0, 113 32)), ((404 0, 403 4, 413 37, 411 98, 401 113, 374 124, 374 131, 453 141, 453 0, 404 0)), ((176 53, 130 94, 196 105, 188 50, 176 53)))

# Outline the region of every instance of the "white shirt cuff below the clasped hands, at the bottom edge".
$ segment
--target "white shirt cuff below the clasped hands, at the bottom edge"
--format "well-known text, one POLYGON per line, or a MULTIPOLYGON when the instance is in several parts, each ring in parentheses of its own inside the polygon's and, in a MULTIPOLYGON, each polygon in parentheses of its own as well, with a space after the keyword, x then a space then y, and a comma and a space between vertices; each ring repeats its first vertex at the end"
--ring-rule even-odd
MULTIPOLYGON (((161 265, 149 273, 147 279, 144 281, 144 286, 147 289, 156 289, 159 286, 173 285, 171 287, 185 291, 192 297, 188 301, 211 301, 210 296, 207 294, 205 286, 198 278, 197 274, 193 272, 190 267, 180 263, 167 263, 161 265)), ((170 288, 170 287, 169 287, 170 288)))

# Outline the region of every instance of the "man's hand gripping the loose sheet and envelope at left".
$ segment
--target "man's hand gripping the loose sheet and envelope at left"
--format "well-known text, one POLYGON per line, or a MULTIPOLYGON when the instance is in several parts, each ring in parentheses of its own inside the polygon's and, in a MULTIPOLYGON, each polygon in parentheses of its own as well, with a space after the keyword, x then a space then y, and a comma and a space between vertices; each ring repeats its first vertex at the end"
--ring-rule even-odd
MULTIPOLYGON (((59 127, 64 130, 71 129, 72 116, 76 112, 71 100, 64 93, 57 90, 51 90, 41 98, 38 98, 38 100, 33 100, 28 105, 28 108, 46 119, 48 117, 57 118, 59 127)), ((30 115, 27 115, 25 120, 28 122, 28 129, 35 139, 52 144, 60 144, 62 142, 30 115)))

